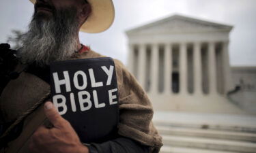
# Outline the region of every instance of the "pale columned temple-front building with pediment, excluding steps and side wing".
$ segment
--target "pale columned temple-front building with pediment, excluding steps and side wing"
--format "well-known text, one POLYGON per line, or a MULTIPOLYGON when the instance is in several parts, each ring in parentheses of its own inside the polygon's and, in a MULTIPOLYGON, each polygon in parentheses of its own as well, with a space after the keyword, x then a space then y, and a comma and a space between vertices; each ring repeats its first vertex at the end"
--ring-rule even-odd
POLYGON ((244 114, 233 90, 229 32, 233 27, 175 15, 126 31, 128 69, 154 109, 244 114))

